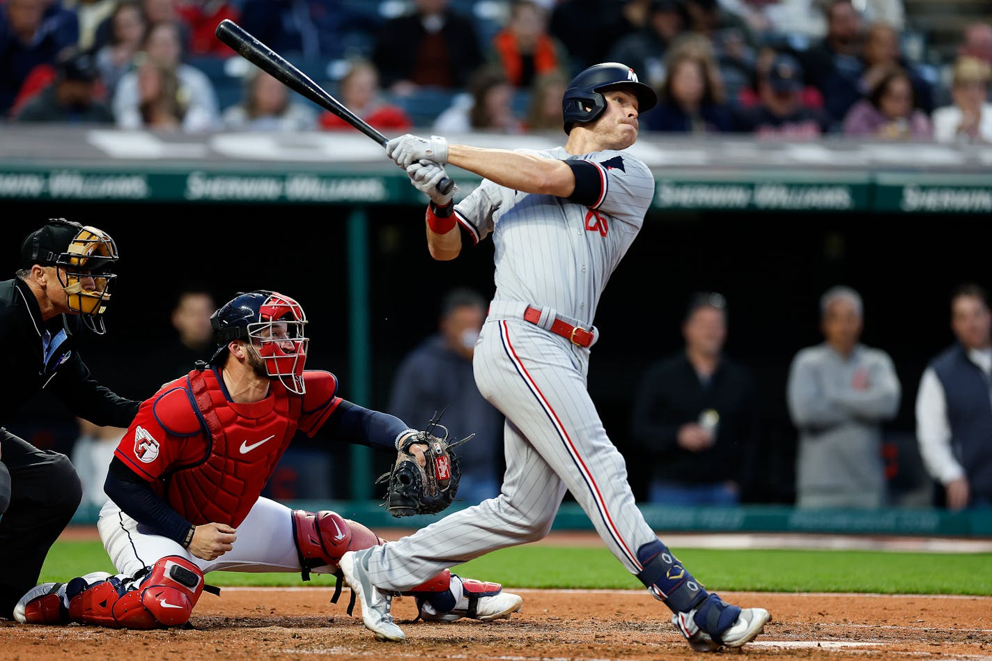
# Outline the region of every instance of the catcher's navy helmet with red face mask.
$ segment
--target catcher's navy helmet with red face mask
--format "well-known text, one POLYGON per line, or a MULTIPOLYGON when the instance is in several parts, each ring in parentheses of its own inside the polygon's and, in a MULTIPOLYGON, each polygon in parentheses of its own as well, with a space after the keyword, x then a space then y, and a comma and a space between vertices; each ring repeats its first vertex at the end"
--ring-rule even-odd
POLYGON ((239 294, 210 316, 217 350, 210 364, 217 364, 234 339, 246 340, 265 364, 266 373, 297 394, 307 391, 304 364, 307 362, 307 315, 288 296, 268 290, 239 294))

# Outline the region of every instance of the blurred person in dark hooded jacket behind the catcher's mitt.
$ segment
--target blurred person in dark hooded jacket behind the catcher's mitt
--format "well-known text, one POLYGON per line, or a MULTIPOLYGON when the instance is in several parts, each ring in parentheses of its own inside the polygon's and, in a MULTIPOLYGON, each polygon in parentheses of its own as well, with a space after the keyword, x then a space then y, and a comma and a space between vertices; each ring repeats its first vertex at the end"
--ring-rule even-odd
POLYGON ((462 470, 458 500, 468 504, 498 495, 502 475, 503 416, 479 393, 472 372, 485 317, 486 301, 477 292, 449 291, 441 302, 437 332, 400 363, 389 403, 390 413, 420 426, 428 423, 425 412, 446 410, 440 424, 451 440, 476 435, 454 450, 462 470))

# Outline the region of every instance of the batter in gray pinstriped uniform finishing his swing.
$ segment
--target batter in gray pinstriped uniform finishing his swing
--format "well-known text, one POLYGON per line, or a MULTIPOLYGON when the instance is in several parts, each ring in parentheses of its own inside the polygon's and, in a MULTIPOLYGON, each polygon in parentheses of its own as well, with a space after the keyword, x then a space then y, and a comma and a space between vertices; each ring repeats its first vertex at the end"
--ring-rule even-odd
POLYGON ((344 554, 344 580, 378 637, 404 638, 390 614, 392 594, 489 551, 541 539, 565 489, 624 567, 673 610, 694 649, 739 647, 768 621, 763 608, 707 593, 657 538, 586 390, 599 297, 654 195, 651 171, 625 150, 637 139, 639 111, 655 103, 633 69, 606 63, 579 73, 565 91, 563 148, 479 149, 412 135, 388 143, 390 158, 431 197, 427 238, 435 259, 454 258, 465 237, 495 242, 496 294, 473 362, 479 390, 507 418, 507 469, 498 497, 397 542, 344 554), (453 208, 451 194, 434 189, 445 163, 483 178, 453 208))

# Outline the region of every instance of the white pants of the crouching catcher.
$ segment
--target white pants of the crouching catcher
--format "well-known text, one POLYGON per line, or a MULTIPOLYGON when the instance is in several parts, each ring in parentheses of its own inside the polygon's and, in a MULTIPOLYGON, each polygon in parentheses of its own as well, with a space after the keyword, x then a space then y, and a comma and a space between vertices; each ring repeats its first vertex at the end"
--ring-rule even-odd
MULTIPOLYGON (((203 574, 209 572, 300 572, 294 540, 292 510, 268 498, 259 498, 237 528, 233 548, 216 560, 201 560, 173 540, 158 535, 121 511, 112 500, 100 510, 96 527, 103 548, 117 571, 131 576, 166 556, 181 556, 203 574)), ((336 568, 335 568, 336 569, 336 568)), ((314 574, 334 569, 318 567, 314 574)))

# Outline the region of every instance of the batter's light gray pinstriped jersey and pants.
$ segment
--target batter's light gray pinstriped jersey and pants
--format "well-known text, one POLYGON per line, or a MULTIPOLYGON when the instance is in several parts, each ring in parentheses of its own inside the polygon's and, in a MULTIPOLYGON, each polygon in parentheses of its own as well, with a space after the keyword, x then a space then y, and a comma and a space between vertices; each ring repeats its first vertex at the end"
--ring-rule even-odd
POLYGON ((637 550, 657 540, 587 392, 589 349, 546 330, 556 317, 591 326, 610 274, 644 222, 654 179, 621 151, 531 153, 594 164, 600 195, 585 206, 483 181, 455 207, 476 242, 492 234, 496 246, 496 295, 473 367, 479 391, 507 418, 502 493, 356 554, 380 588, 404 591, 444 568, 544 537, 565 489, 630 572, 643 569, 637 550), (528 307, 542 310, 538 324, 524 321, 528 307))

